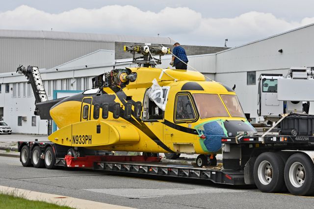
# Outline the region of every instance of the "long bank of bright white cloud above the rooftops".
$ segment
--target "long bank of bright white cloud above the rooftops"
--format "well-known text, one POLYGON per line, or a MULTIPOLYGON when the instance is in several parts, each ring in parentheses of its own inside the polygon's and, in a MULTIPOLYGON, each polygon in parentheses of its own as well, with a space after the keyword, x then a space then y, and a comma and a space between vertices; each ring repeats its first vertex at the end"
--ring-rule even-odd
POLYGON ((183 44, 236 46, 314 22, 314 17, 289 22, 270 13, 247 12, 234 18, 204 18, 187 7, 159 12, 134 6, 76 8, 51 14, 26 5, 0 13, 0 28, 168 36, 183 44))

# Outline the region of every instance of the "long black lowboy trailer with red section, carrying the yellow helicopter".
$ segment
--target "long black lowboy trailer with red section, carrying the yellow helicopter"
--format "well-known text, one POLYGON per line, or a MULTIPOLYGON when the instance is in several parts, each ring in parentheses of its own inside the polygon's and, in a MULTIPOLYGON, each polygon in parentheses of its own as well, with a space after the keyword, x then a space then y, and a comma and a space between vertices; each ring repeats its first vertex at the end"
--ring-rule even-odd
POLYGON ((249 135, 222 137, 222 165, 197 167, 162 162, 161 157, 113 156, 52 142, 18 142, 23 166, 89 168, 152 176, 204 179, 213 183, 255 184, 262 192, 314 194, 314 136, 249 135))

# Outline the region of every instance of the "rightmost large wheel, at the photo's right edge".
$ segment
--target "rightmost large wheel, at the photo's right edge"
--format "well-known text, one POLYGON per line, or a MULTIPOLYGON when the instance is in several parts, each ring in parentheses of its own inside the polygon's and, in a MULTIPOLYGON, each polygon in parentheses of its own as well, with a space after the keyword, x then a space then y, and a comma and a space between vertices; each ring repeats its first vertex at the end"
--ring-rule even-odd
POLYGON ((286 162, 285 183, 291 194, 314 194, 314 164, 300 153, 293 154, 286 162))

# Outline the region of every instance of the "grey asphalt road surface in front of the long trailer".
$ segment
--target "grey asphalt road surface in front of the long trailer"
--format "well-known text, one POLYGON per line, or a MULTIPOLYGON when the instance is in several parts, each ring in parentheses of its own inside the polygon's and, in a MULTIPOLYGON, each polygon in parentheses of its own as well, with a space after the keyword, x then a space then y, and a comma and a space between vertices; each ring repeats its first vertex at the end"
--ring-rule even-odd
POLYGON ((0 157, 0 185, 140 209, 313 208, 314 197, 262 193, 208 181, 118 175, 80 169, 23 167, 0 157))

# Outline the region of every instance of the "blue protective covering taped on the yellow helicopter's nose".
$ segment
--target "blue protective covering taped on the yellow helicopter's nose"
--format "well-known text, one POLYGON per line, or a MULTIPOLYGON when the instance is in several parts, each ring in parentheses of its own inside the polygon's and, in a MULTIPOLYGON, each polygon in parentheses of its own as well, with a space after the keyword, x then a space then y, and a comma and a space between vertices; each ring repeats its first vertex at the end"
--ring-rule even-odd
POLYGON ((221 137, 226 136, 220 121, 211 121, 197 128, 198 133, 206 136, 203 141, 209 152, 218 152, 221 149, 221 137))

